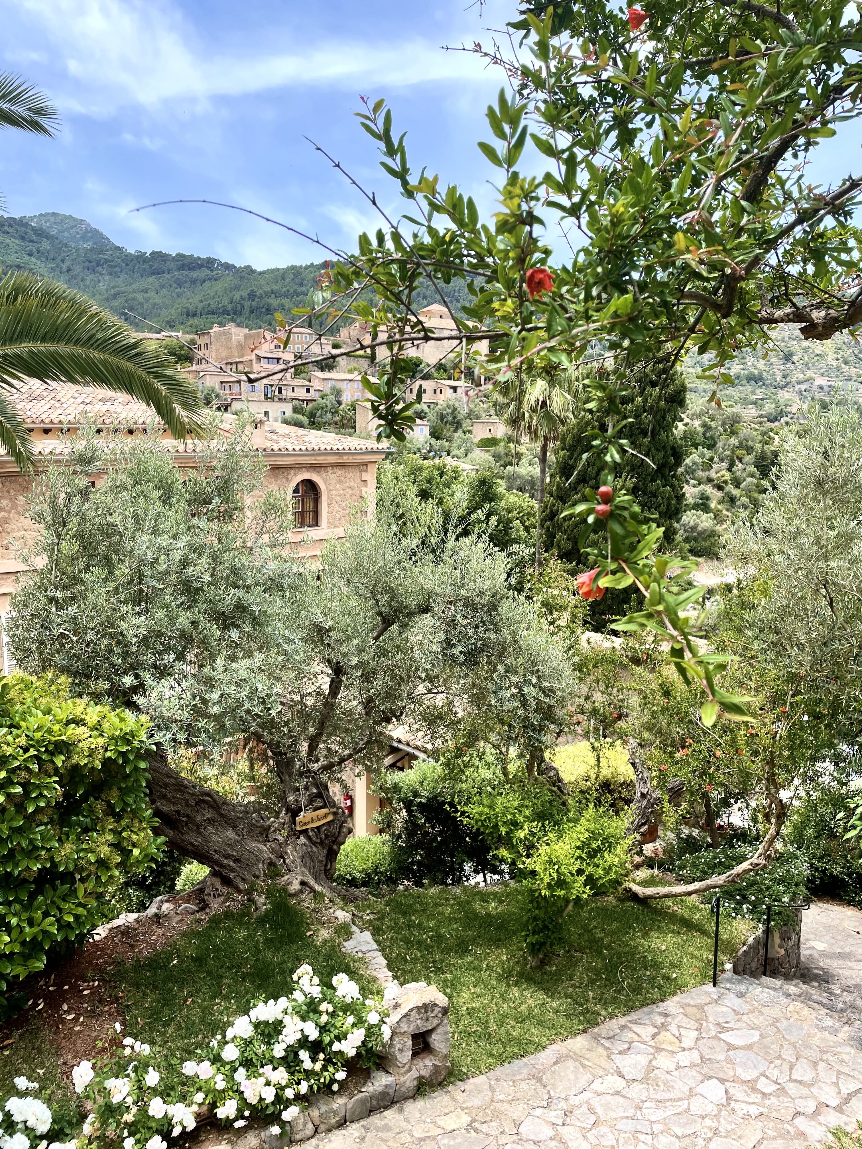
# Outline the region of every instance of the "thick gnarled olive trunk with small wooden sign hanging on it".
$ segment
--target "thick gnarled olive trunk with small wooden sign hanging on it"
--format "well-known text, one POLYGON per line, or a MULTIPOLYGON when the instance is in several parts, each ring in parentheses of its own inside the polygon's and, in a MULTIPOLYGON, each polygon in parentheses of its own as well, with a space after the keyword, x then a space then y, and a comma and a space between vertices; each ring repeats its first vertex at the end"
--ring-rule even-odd
POLYGON ((285 800, 278 818, 267 818, 249 807, 172 770, 163 755, 149 757, 149 797, 159 818, 159 832, 168 846, 201 862, 229 886, 279 880, 295 890, 331 890, 338 851, 351 833, 351 824, 322 786, 306 792, 305 812, 329 808, 331 822, 311 830, 297 830, 303 812, 299 791, 285 800))

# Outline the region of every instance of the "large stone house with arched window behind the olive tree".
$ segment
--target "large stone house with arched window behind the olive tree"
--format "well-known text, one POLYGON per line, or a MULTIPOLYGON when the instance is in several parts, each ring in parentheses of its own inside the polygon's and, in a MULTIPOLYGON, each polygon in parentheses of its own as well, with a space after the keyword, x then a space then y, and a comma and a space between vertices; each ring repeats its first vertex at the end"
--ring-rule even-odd
MULTIPOLYGON (((179 468, 194 465, 200 450, 194 440, 175 441, 149 408, 115 392, 30 381, 15 392, 15 406, 32 437, 37 471, 62 462, 84 424, 106 444, 156 435, 179 468)), ((229 435, 237 425, 237 416, 223 415, 218 434, 229 435)), ((293 500, 291 546, 298 556, 314 560, 328 539, 343 537, 355 507, 364 503, 365 514, 374 512, 377 465, 386 455, 376 442, 256 419, 251 446, 267 464, 264 492, 287 492, 293 500)), ((99 473, 91 477, 93 485, 101 480, 99 473)), ((0 452, 0 625, 15 580, 26 570, 18 547, 37 533, 26 506, 32 487, 33 478, 0 452)))

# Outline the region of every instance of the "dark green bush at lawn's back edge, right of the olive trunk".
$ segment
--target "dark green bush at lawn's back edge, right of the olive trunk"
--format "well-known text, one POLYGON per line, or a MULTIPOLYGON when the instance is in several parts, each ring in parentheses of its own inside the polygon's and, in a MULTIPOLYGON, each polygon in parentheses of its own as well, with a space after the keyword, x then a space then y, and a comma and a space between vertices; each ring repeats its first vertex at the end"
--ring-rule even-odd
POLYGON ((462 813, 468 795, 482 787, 488 770, 494 765, 482 756, 460 757, 453 751, 439 762, 383 776, 378 788, 391 809, 380 815, 380 826, 391 835, 401 877, 456 885, 471 873, 495 871, 482 828, 462 813))

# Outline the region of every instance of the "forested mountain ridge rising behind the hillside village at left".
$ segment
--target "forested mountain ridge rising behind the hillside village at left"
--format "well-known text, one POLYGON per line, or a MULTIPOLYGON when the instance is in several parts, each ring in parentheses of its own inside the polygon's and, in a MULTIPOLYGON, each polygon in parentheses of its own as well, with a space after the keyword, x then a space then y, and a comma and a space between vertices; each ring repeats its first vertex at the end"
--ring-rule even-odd
MULTIPOLYGON (((305 303, 323 263, 287 268, 223 263, 211 256, 128 252, 86 219, 47 211, 38 216, 0 219, 0 268, 34 271, 88 295, 141 331, 143 316, 168 331, 202 331, 214 323, 261 327, 276 311, 305 303)), ((461 285, 447 288, 453 303, 461 285)), ((465 294, 465 293, 464 293, 465 294)), ((415 302, 436 299, 430 287, 415 302)))

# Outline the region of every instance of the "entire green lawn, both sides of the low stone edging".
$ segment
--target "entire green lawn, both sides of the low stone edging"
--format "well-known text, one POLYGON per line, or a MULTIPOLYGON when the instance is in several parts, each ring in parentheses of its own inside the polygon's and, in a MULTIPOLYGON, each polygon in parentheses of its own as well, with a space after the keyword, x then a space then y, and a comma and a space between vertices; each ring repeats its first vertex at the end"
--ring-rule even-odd
MULTIPOLYGON (((449 997, 459 1078, 711 978, 714 919, 699 902, 593 899, 565 919, 564 953, 532 969, 521 942, 522 896, 514 886, 414 889, 353 908, 399 981, 428 981, 449 997)), ((744 925, 723 920, 722 963, 738 949, 744 925)), ((348 934, 329 921, 324 903, 300 908, 277 894, 265 912, 216 915, 151 957, 118 964, 109 979, 129 1032, 185 1058, 252 1002, 287 993, 303 962, 322 981, 344 970, 378 996, 364 963, 340 949, 348 934)), ((0 1056, 0 1089, 13 1092, 14 1075, 32 1079, 39 1070, 54 1103, 71 1112, 75 1098, 37 1013, 0 1056)))

